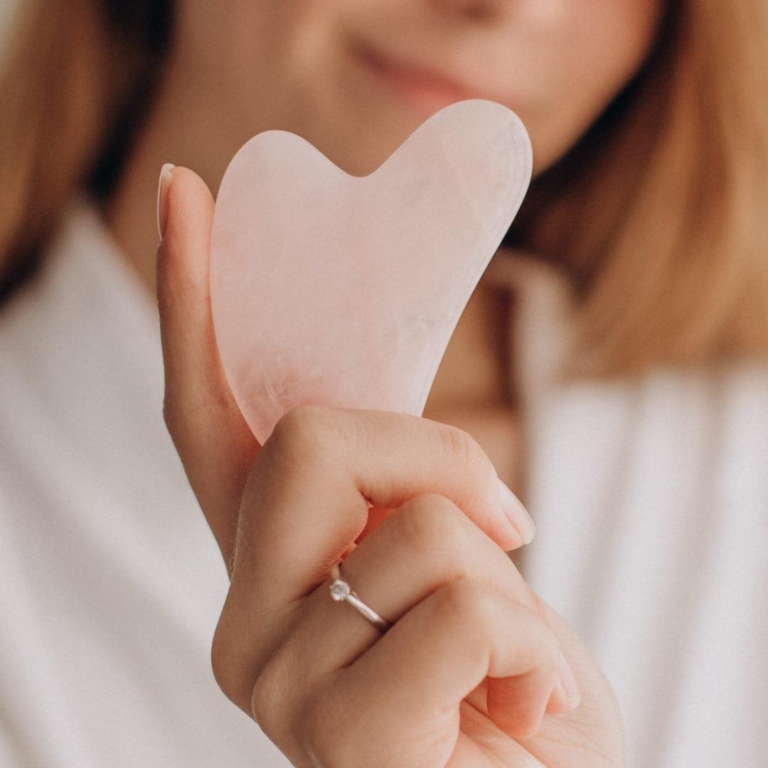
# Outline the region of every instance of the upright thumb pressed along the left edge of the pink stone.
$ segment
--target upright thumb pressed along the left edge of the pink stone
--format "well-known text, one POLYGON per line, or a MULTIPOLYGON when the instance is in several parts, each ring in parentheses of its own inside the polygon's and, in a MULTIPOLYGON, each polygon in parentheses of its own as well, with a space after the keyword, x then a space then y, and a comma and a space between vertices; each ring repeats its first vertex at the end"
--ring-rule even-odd
POLYGON ((197 174, 164 166, 157 207, 165 422, 229 563, 240 498, 259 445, 233 398, 214 336, 208 276, 214 200, 197 174))

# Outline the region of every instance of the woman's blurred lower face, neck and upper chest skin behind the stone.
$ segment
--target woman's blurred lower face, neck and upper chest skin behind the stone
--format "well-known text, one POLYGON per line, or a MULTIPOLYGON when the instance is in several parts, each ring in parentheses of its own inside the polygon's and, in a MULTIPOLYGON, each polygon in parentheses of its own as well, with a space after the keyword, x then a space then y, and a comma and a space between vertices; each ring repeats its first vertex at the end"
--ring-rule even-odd
MULTIPOLYGON (((154 111, 111 201, 111 229, 154 291, 152 193, 162 164, 194 168, 217 190, 245 141, 285 128, 349 172, 366 173, 429 114, 468 96, 492 97, 518 112, 540 172, 637 70, 662 5, 178 0, 174 49, 154 111)), ((505 370, 505 302, 493 286, 478 286, 425 414, 474 435, 505 482, 520 491, 522 440, 505 370)))

